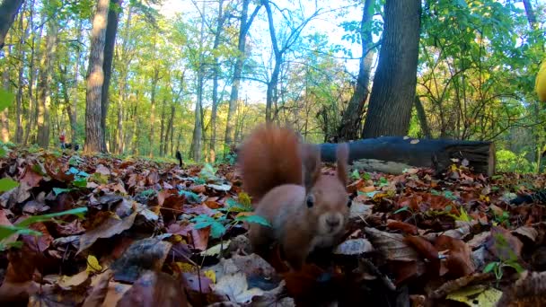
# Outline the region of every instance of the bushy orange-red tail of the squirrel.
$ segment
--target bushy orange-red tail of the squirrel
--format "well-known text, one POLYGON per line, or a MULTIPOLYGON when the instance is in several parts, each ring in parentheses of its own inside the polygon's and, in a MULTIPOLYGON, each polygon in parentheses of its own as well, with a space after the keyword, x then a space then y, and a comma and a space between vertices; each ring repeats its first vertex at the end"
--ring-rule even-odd
POLYGON ((269 190, 283 184, 303 185, 302 146, 286 127, 255 128, 239 150, 242 189, 256 203, 269 190))

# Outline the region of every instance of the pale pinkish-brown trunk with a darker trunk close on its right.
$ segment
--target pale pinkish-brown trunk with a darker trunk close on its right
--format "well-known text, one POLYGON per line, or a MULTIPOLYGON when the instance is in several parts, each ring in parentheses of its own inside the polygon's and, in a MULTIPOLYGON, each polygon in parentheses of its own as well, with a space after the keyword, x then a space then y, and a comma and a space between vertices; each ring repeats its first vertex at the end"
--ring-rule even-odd
POLYGON ((92 22, 89 75, 85 96, 85 146, 87 153, 105 152, 104 131, 101 127, 101 95, 104 83, 104 44, 110 0, 99 0, 92 22))

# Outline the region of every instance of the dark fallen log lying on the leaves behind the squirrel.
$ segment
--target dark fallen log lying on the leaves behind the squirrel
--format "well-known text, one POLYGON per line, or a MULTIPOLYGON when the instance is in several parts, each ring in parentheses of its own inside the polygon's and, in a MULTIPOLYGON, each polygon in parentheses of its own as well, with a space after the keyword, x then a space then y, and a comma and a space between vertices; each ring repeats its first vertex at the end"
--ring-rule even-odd
MULTIPOLYGON (((335 162, 337 144, 321 144, 323 162, 335 162)), ((478 173, 495 173, 495 145, 492 142, 446 139, 416 139, 381 136, 349 143, 349 162, 364 171, 401 173, 411 167, 431 167, 445 171, 454 162, 466 159, 478 173)))

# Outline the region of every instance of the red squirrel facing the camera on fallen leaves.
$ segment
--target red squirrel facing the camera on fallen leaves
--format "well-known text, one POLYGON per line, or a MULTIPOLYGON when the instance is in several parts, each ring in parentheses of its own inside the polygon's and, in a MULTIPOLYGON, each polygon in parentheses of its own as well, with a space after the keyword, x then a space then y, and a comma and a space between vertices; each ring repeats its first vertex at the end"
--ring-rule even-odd
POLYGON ((274 243, 291 268, 302 268, 315 248, 339 243, 348 222, 348 145, 337 150, 335 176, 321 174, 317 145, 303 144, 289 128, 264 125, 251 132, 239 152, 242 189, 255 214, 271 227, 251 224, 252 250, 267 259, 274 243))

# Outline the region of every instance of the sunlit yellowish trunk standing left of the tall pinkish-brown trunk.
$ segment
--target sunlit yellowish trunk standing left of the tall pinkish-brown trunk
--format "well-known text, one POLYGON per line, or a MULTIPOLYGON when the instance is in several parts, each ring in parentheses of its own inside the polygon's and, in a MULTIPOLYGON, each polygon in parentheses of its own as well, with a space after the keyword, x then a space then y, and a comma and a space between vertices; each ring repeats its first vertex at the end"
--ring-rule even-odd
POLYGON ((49 145, 49 109, 51 107, 51 83, 53 81, 53 57, 57 46, 57 24, 48 21, 46 49, 40 60, 40 81, 38 83, 40 98, 38 106, 38 145, 47 148, 49 145))

